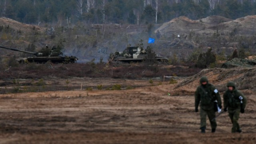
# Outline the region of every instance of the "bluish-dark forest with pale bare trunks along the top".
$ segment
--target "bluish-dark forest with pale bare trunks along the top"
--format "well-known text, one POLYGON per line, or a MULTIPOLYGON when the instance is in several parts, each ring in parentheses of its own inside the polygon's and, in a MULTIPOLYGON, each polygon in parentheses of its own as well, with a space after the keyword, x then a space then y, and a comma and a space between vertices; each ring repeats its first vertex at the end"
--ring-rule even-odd
POLYGON ((187 16, 237 19, 256 14, 253 0, 0 0, 1 16, 28 24, 148 24, 187 16))

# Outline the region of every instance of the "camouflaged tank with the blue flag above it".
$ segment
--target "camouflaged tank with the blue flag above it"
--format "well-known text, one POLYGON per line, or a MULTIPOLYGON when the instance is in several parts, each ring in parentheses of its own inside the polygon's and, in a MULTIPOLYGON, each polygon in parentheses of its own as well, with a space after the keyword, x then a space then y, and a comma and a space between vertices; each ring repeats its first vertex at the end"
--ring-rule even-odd
POLYGON ((138 46, 130 46, 127 47, 123 52, 115 52, 114 54, 110 54, 110 61, 114 61, 116 63, 130 63, 145 62, 146 60, 151 59, 159 63, 168 63, 168 58, 160 57, 154 52, 147 51, 148 49, 139 48, 138 46))

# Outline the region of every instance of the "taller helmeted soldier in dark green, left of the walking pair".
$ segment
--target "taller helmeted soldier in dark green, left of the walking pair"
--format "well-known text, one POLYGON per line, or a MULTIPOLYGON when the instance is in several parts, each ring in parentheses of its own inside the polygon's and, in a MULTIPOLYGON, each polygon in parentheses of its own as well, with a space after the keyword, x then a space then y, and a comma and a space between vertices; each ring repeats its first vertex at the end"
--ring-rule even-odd
POLYGON ((215 115, 214 101, 217 100, 218 107, 221 109, 221 98, 218 90, 208 82, 207 77, 200 79, 201 86, 197 87, 195 92, 195 112, 198 112, 200 104, 200 117, 201 117, 201 133, 205 133, 207 116, 210 120, 212 133, 216 131, 217 123, 213 118, 215 115))

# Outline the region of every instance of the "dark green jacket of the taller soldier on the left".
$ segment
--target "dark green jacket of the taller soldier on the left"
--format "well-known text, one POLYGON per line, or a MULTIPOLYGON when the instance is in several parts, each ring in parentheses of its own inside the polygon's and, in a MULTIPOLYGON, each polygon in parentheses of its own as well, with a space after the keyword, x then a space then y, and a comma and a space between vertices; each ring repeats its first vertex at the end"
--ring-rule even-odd
POLYGON ((206 86, 199 86, 195 92, 195 107, 200 107, 204 110, 214 109, 214 101, 218 101, 221 105, 220 93, 212 84, 207 83, 206 86))

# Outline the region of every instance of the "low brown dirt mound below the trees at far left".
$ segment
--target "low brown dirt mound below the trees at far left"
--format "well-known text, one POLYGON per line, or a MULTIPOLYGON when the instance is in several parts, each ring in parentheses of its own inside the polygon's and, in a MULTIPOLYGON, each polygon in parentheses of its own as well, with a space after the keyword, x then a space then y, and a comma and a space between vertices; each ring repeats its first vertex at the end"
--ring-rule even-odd
POLYGON ((20 23, 9 18, 0 18, 0 26, 9 26, 15 29, 16 31, 20 30, 22 32, 30 32, 30 31, 42 32, 46 30, 46 28, 43 28, 43 27, 20 23))

